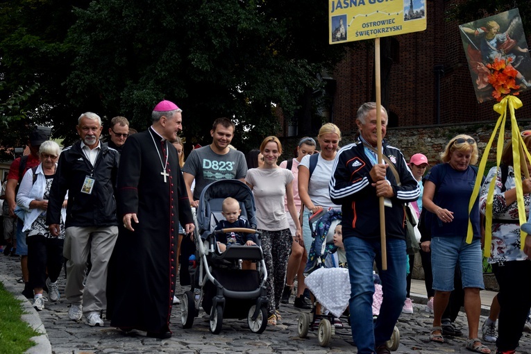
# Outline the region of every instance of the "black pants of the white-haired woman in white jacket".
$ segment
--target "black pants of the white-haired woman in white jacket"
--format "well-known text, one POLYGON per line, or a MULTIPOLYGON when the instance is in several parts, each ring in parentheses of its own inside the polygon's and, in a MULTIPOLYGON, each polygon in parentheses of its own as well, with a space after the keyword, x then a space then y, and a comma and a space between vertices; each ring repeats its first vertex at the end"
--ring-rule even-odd
POLYGON ((56 237, 47 238, 43 235, 32 235, 26 239, 28 244, 28 271, 31 289, 44 287, 46 284, 46 271, 51 282, 55 282, 61 273, 62 244, 64 239, 56 237))

